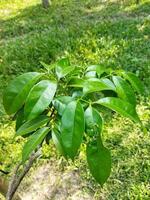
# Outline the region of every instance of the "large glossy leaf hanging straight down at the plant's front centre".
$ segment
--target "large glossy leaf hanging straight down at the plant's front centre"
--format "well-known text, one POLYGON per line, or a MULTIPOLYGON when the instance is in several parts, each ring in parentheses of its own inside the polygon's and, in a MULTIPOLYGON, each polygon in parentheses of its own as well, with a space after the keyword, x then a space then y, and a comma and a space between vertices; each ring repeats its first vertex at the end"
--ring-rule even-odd
POLYGON ((64 152, 74 159, 85 129, 84 111, 78 101, 69 103, 61 119, 61 140, 64 152))

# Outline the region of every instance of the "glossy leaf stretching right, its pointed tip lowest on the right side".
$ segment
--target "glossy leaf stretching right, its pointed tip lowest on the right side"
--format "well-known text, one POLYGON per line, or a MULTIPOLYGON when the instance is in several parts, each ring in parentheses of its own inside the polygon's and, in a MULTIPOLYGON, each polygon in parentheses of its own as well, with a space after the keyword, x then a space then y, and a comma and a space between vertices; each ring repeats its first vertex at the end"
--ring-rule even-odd
POLYGON ((116 97, 106 97, 96 101, 95 103, 103 105, 111 110, 114 110, 115 112, 118 112, 124 117, 128 117, 134 122, 141 123, 136 112, 135 106, 122 99, 116 97))

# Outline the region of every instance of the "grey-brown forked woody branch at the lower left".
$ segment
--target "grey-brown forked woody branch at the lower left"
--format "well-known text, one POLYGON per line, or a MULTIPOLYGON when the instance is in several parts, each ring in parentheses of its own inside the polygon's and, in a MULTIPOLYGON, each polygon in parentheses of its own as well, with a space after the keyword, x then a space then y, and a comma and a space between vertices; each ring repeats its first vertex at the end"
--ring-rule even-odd
POLYGON ((32 153, 28 163, 24 166, 23 171, 19 174, 19 176, 17 176, 18 170, 21 166, 21 163, 19 163, 16 167, 16 169, 14 170, 14 174, 11 178, 10 184, 9 184, 9 188, 8 188, 8 192, 6 195, 6 200, 11 200, 16 192, 16 190, 18 189, 21 181, 23 180, 23 178, 25 177, 25 175, 28 173, 28 171, 30 170, 30 168, 32 167, 34 161, 41 155, 41 149, 38 149, 36 152, 32 153))

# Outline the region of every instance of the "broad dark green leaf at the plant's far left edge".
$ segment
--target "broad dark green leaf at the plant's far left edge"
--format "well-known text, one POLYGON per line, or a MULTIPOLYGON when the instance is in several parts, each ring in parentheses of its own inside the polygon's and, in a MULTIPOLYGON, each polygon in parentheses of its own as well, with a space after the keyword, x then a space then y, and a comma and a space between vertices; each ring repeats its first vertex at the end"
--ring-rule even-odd
POLYGON ((22 107, 30 89, 42 75, 38 72, 28 72, 10 82, 3 95, 3 104, 7 114, 13 114, 22 107))

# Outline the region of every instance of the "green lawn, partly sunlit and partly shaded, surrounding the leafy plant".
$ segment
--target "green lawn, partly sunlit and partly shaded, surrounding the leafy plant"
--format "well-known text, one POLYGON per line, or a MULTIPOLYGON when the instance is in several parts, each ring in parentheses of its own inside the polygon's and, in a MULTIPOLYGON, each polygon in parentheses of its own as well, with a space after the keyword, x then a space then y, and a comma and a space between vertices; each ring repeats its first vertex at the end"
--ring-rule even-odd
MULTIPOLYGON (((39 0, 0 0, 0 103, 3 89, 14 76, 40 70, 40 61, 53 63, 68 56, 76 66, 103 63, 135 72, 147 92, 146 99, 139 98, 138 112, 149 129, 150 1, 134 2, 53 0, 45 10, 39 0)), ((5 119, 0 120, 0 161, 10 169, 19 158, 21 144, 18 141, 17 147, 9 139, 14 129, 5 119)), ((148 200, 149 134, 119 116, 108 122, 103 135, 112 150, 113 172, 102 189, 86 177, 87 189, 93 188, 94 199, 148 200)), ((77 165, 84 178, 84 158, 77 165)))

